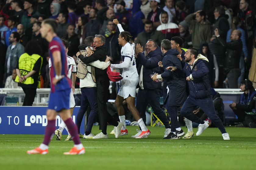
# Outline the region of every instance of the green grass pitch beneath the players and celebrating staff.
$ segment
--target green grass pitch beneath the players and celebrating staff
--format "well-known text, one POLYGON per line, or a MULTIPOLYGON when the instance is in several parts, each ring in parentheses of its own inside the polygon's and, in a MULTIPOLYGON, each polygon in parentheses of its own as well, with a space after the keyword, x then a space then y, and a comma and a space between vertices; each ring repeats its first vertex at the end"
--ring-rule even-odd
MULTIPOLYGON (((98 134, 98 126, 92 132, 98 134)), ((128 135, 118 139, 81 139, 84 155, 63 155, 73 141, 56 141, 53 136, 47 155, 28 155, 43 135, 0 134, 1 170, 175 170, 175 169, 256 169, 256 129, 226 127, 230 141, 224 141, 218 128, 207 128, 191 139, 164 140, 164 127, 149 127, 148 138, 131 138, 138 127, 127 126, 128 135)), ((186 127, 182 127, 187 132, 186 127)), ((113 130, 108 126, 108 133, 113 130)), ((197 128, 194 128, 194 134, 197 128)))

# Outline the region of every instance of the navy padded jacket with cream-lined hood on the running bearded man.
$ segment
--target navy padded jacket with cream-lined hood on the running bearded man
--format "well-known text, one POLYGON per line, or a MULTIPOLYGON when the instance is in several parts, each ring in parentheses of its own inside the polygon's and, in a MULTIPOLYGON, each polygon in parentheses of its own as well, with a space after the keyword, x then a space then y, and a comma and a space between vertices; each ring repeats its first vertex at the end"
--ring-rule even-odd
POLYGON ((183 73, 191 79, 188 81, 190 97, 195 99, 212 97, 207 62, 209 61, 205 56, 198 54, 192 66, 189 63, 185 63, 183 73))

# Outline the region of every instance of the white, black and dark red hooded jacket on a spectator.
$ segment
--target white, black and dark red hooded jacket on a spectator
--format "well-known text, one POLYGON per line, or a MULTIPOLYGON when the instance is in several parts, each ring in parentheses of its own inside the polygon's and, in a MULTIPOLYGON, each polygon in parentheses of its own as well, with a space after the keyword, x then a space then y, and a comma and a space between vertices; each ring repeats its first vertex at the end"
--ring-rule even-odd
POLYGON ((170 17, 168 16, 168 22, 162 23, 161 14, 159 15, 159 20, 161 25, 159 25, 156 30, 161 31, 166 39, 171 40, 174 36, 180 36, 179 26, 173 22, 171 22, 170 17))

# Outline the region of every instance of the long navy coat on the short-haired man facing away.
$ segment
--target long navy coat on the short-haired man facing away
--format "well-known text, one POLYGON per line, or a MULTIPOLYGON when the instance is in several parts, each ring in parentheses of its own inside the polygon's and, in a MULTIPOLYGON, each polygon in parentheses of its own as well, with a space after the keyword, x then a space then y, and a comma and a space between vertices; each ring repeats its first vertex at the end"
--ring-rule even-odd
POLYGON ((182 69, 180 59, 177 58, 177 55, 179 55, 179 52, 176 49, 169 49, 164 53, 164 59, 162 61, 165 72, 161 74, 161 77, 166 81, 169 88, 169 93, 166 97, 166 99, 169 97, 169 106, 182 106, 187 98, 186 80, 182 73, 176 73, 170 71, 170 69, 166 70, 169 66, 182 69))

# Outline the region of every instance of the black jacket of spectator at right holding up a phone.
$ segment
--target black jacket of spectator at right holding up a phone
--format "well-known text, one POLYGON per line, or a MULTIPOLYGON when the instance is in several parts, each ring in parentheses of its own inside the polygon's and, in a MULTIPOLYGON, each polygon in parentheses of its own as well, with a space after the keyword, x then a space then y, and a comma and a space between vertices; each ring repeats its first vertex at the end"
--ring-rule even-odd
POLYGON ((227 49, 224 67, 228 69, 239 68, 240 57, 243 50, 241 39, 226 42, 221 36, 217 38, 220 44, 227 49))

